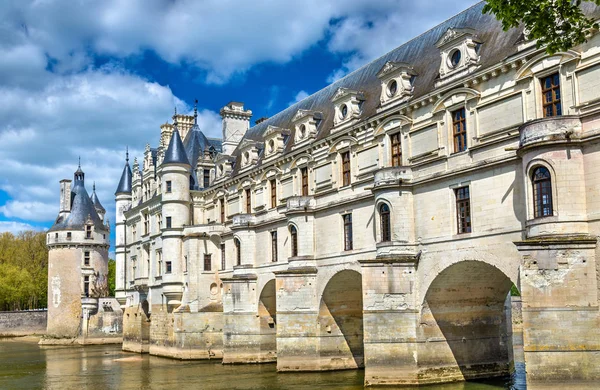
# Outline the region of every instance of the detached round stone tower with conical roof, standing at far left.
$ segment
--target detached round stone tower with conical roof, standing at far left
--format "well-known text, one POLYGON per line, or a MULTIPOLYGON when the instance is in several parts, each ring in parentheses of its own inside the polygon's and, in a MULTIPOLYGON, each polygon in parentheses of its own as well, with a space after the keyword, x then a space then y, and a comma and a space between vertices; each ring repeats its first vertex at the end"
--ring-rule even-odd
POLYGON ((61 180, 60 211, 48 231, 48 325, 51 338, 80 336, 82 317, 98 309, 106 290, 109 227, 85 189, 81 165, 70 180, 61 180), (102 290, 102 291, 101 291, 102 290))

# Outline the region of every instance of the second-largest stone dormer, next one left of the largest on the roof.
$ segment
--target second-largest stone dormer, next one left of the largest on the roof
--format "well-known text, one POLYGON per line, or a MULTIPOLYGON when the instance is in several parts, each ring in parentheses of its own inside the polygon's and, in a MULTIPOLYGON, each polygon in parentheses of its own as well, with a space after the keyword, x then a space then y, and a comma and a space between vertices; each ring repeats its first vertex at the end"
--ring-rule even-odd
POLYGON ((413 82, 416 73, 412 66, 404 62, 388 61, 377 73, 381 81, 381 106, 388 106, 410 99, 413 93, 413 82))

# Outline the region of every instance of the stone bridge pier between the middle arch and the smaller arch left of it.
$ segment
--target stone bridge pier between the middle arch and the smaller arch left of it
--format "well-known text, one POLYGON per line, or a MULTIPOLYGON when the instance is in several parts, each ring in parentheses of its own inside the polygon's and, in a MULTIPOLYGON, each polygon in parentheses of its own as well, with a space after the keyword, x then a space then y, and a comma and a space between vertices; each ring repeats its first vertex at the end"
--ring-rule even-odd
POLYGON ((320 371, 317 269, 297 267, 277 277, 277 370, 320 371))

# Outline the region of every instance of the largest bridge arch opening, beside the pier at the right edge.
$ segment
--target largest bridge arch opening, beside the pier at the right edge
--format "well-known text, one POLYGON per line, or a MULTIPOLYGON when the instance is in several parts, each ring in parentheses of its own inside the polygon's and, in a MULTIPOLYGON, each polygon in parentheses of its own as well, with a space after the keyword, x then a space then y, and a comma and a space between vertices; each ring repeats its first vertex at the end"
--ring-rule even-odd
POLYGON ((513 282, 481 261, 462 261, 443 270, 423 302, 419 367, 423 375, 469 380, 510 373, 513 282))

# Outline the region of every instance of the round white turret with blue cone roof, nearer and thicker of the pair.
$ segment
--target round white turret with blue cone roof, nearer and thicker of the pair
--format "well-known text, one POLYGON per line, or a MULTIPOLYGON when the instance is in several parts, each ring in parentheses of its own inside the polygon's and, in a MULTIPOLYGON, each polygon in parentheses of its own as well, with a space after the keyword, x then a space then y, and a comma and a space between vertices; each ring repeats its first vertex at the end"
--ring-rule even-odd
POLYGON ((184 288, 185 264, 182 253, 183 226, 190 223, 190 174, 191 166, 177 129, 177 117, 173 136, 165 152, 159 170, 161 177, 164 253, 163 294, 170 309, 181 303, 184 288))

